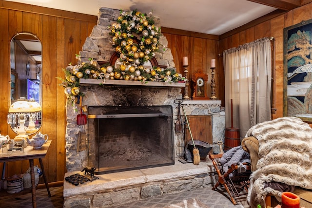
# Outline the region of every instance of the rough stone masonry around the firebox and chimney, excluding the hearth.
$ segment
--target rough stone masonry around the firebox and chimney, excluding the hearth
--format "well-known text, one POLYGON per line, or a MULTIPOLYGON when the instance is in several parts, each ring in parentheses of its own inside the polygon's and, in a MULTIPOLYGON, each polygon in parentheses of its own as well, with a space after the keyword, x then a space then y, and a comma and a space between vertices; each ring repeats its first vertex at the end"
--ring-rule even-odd
MULTIPOLYGON (((119 10, 100 8, 98 15, 98 24, 93 28, 90 37, 86 41, 80 51, 81 61, 87 58, 93 58, 102 62, 109 62, 114 55, 115 49, 110 42, 108 26, 116 21, 119 16, 119 10)), ((160 27, 160 21, 154 18, 155 24, 160 27)), ((175 67, 173 56, 168 41, 163 35, 159 38, 160 48, 156 52, 156 61, 161 66, 175 67)), ((182 99, 181 85, 177 83, 164 83, 161 85, 136 84, 136 81, 109 80, 115 81, 113 84, 104 84, 99 86, 94 81, 85 81, 82 79, 80 84, 83 85, 81 90, 85 93, 83 97, 83 105, 86 106, 172 106, 173 116, 172 125, 177 121, 177 104, 176 99, 182 99), (127 82, 126 85, 118 84, 119 82, 127 82)), ((137 81, 138 82, 138 81, 137 81)), ((153 82, 152 82, 153 83, 153 82)), ((157 82, 156 82, 157 83, 157 82)), ((189 115, 212 115, 212 135, 213 144, 217 141, 224 141, 225 132, 225 116, 221 111, 220 101, 183 101, 185 109, 189 115)), ((76 108, 78 104, 76 104, 76 108)), ((83 129, 88 133, 88 126, 83 128, 77 125, 77 112, 73 111, 73 107, 67 106, 67 128, 66 128, 66 168, 68 171, 82 170, 88 165, 88 151, 77 151, 78 132, 83 129)), ((79 107, 78 107, 79 108, 79 107)), ((79 111, 78 111, 79 112, 79 111)), ((159 129, 154 127, 153 131, 159 129)), ((173 132, 173 155, 180 157, 183 155, 184 141, 181 132, 173 132)), ((215 145, 214 151, 218 150, 215 145)), ((93 161, 95 161, 93 159, 93 161)), ((90 164, 94 164, 91 162, 90 164)))

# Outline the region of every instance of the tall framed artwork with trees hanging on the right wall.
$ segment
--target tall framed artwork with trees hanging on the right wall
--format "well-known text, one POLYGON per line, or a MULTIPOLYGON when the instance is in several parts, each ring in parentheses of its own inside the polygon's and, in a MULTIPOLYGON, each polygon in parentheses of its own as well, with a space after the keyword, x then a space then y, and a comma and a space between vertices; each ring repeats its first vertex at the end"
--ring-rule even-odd
POLYGON ((283 110, 312 121, 312 19, 284 29, 283 110))

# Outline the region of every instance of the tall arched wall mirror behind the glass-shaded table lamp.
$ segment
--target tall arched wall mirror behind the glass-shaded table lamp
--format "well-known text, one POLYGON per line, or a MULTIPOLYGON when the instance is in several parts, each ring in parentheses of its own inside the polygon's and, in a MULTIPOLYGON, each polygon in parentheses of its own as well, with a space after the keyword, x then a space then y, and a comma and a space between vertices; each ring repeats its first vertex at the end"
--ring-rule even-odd
MULTIPOLYGON (((18 33, 11 39, 10 49, 11 107, 20 100, 31 104, 36 102, 41 106, 42 45, 39 38, 30 33, 18 33)), ((21 113, 10 113, 13 112, 11 107, 8 124, 14 132, 19 133, 21 113)), ((23 122, 26 135, 36 133, 41 127, 41 109, 36 113, 25 112, 23 122)))

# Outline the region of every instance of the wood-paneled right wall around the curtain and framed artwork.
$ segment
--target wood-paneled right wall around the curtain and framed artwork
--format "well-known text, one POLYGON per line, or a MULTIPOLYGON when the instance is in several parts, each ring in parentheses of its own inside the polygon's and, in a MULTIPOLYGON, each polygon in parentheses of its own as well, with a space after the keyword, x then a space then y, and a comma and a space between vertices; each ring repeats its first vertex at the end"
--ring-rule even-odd
MULTIPOLYGON (((259 38, 274 38, 275 61, 273 68, 275 70, 275 94, 273 95, 273 98, 277 111, 272 114, 273 119, 283 117, 283 30, 284 28, 300 23, 303 20, 312 19, 311 10, 312 3, 309 3, 273 19, 251 26, 246 30, 239 31, 234 35, 220 39, 218 53, 222 54, 222 52, 226 49, 237 47, 241 44, 249 43, 259 38)), ((220 83, 224 83, 224 76, 220 76, 220 79, 222 78, 223 80, 220 80, 220 83)))

